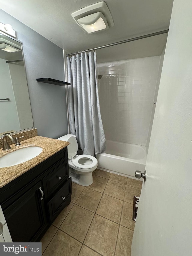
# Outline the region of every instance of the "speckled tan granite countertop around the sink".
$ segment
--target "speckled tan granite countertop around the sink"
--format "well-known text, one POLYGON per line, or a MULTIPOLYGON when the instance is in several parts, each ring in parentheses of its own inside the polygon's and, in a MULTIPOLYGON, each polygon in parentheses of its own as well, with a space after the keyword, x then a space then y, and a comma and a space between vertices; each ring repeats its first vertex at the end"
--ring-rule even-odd
POLYGON ((11 149, 9 149, 8 151, 3 151, 1 148, 0 161, 2 156, 24 147, 39 146, 43 149, 43 151, 35 158, 32 158, 31 160, 26 161, 24 163, 13 165, 10 167, 0 168, 0 188, 6 185, 7 183, 11 182, 13 179, 16 179, 17 177, 21 176, 28 170, 32 169, 34 166, 38 165, 45 159, 54 155, 56 152, 65 148, 69 144, 70 143, 68 143, 67 141, 35 136, 30 139, 23 140, 20 146, 15 146, 14 144, 11 145, 11 149))

